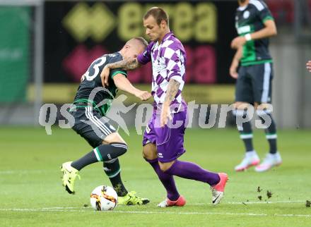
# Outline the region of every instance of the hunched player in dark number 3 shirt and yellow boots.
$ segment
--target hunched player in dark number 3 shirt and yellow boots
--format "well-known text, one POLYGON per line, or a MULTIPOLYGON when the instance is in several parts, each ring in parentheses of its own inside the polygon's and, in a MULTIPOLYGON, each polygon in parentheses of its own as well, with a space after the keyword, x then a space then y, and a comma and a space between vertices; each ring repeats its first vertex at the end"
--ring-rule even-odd
MULTIPOLYGON (((140 54, 148 43, 142 37, 130 39, 124 47, 113 54, 105 54, 93 61, 81 79, 74 107, 71 114, 74 116, 73 129, 81 135, 93 147, 93 150, 81 159, 67 161, 61 165, 63 172, 63 185, 67 192, 73 194, 74 181, 80 171, 85 166, 98 161, 103 162, 104 171, 110 178, 113 188, 119 197, 118 204, 146 204, 148 199, 137 197, 135 192, 128 192, 124 187, 120 176, 120 165, 118 157, 127 152, 127 143, 110 125, 109 119, 105 117, 114 99, 117 89, 134 94, 141 100, 147 100, 151 94, 146 91, 136 89, 129 80, 125 70, 115 69, 110 71, 110 85, 103 88, 100 72, 107 63, 121 61, 123 59, 134 58, 140 54), (105 101, 102 106, 100 102, 105 101)), ((78 176, 80 177, 80 176, 78 176)))

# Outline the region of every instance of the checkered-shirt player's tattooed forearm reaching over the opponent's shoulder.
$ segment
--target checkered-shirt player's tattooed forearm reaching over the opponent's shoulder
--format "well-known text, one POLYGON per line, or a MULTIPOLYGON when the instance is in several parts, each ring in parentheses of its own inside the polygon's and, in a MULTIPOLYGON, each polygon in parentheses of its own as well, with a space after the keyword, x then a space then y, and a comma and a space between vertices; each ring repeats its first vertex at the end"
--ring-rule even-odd
POLYGON ((102 80, 102 87, 105 87, 108 84, 110 69, 122 68, 124 70, 134 70, 135 68, 139 68, 141 64, 137 61, 136 58, 124 59, 122 61, 117 61, 115 63, 108 63, 103 69, 102 73, 100 73, 100 78, 102 80))

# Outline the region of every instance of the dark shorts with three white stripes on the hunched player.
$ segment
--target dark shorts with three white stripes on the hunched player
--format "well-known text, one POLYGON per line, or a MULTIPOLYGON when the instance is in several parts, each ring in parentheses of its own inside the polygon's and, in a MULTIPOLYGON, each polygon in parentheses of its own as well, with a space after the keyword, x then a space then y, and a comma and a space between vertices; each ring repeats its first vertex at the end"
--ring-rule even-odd
POLYGON ((76 111, 71 111, 71 115, 75 120, 73 129, 93 148, 101 145, 107 135, 116 132, 116 129, 108 123, 110 119, 102 117, 92 106, 77 106, 76 111))

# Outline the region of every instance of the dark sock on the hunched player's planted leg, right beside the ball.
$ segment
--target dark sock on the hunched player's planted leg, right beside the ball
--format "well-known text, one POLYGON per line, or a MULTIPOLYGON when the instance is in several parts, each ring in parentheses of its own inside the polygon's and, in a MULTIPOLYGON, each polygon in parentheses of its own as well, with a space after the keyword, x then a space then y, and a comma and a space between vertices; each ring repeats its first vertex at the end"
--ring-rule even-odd
POLYGON ((104 171, 108 176, 112 187, 117 192, 118 196, 127 195, 127 189, 124 187, 121 179, 121 168, 119 159, 112 159, 110 161, 104 161, 104 171))

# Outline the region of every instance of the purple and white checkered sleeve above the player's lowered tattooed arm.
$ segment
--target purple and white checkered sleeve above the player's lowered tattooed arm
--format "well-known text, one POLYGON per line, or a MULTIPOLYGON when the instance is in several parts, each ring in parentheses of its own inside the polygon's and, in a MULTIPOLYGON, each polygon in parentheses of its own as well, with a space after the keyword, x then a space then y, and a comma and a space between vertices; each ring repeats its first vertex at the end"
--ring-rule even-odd
POLYGON ((168 80, 174 79, 184 83, 184 56, 182 50, 177 47, 167 47, 164 51, 165 65, 168 70, 168 80))

